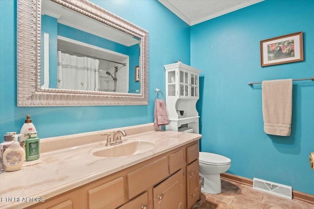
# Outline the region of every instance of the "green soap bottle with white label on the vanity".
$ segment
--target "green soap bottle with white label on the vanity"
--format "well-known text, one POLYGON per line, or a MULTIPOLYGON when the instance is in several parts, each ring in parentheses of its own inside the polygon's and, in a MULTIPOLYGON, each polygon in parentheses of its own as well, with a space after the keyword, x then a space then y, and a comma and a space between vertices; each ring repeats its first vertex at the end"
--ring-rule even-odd
POLYGON ((25 141, 26 161, 39 159, 39 138, 37 132, 29 132, 25 141))

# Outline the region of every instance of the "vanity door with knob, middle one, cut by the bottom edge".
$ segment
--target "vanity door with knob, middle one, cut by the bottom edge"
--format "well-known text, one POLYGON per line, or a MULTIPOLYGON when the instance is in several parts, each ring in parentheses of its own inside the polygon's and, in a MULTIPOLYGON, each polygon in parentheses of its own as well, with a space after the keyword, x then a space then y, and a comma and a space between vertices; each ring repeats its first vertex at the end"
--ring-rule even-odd
POLYGON ((154 209, 184 209, 183 170, 155 186, 154 209))

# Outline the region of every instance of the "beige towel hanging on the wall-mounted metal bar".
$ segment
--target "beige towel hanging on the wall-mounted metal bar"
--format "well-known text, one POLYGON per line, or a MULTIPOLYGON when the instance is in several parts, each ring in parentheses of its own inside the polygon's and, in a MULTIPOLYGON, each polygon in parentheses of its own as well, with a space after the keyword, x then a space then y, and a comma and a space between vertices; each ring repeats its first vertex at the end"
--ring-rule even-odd
POLYGON ((290 136, 292 79, 262 82, 262 111, 266 134, 290 136))

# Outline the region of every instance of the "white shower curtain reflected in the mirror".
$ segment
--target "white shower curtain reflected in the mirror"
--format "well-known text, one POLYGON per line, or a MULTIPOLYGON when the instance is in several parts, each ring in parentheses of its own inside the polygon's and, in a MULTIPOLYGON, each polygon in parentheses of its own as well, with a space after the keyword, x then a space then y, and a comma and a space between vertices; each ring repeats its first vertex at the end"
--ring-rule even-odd
POLYGON ((57 88, 98 91, 99 60, 58 51, 57 88))

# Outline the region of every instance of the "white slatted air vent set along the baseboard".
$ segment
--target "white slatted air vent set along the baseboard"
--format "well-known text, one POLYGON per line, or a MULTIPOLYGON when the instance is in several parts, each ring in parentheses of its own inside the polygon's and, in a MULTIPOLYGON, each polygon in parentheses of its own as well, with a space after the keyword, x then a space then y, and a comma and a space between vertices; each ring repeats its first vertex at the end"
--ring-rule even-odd
POLYGON ((292 187, 281 185, 273 182, 267 182, 262 179, 253 179, 253 188, 267 192, 269 194, 274 194, 287 199, 292 199, 292 187))

